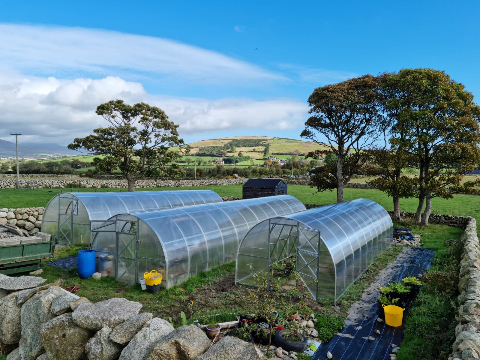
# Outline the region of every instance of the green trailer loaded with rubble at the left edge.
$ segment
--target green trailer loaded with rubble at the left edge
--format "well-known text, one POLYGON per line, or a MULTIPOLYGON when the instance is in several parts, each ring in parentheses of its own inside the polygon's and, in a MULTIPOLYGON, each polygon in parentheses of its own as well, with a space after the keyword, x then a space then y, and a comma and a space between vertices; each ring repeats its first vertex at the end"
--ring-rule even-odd
POLYGON ((39 269, 43 259, 53 257, 55 237, 0 239, 0 274, 16 274, 39 269))

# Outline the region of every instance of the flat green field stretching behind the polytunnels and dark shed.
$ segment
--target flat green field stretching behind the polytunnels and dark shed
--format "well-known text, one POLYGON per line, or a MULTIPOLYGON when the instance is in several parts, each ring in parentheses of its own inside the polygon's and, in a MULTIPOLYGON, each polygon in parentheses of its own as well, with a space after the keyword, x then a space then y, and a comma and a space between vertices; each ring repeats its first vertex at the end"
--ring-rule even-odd
MULTIPOLYGON (((186 188, 147 188, 137 189, 137 191, 158 191, 158 190, 193 190, 193 189, 207 189, 218 193, 220 196, 242 196, 241 185, 224 185, 224 186, 192 186, 186 188)), ((0 208, 1 207, 31 207, 31 206, 45 206, 48 201, 57 193, 70 192, 70 189, 48 189, 42 190, 16 190, 16 189, 2 189, 0 190, 0 208)), ((84 192, 95 192, 95 189, 72 189, 73 192, 81 190, 84 192)), ((97 189, 98 192, 117 191, 120 189, 97 189)), ((126 189, 121 189, 126 191, 126 189)), ((332 204, 336 202, 336 192, 326 191, 313 195, 314 189, 307 185, 289 185, 288 194, 296 197, 302 203, 306 204, 332 204)), ((384 192, 379 190, 368 189, 345 189, 345 200, 352 200, 358 198, 370 199, 380 205, 386 210, 393 210, 393 200, 384 192)), ((474 195, 455 195, 453 199, 439 199, 432 200, 432 213, 446 214, 446 215, 460 215, 473 216, 480 219, 480 208, 478 206, 480 198, 474 195)), ((400 199, 401 211, 414 212, 417 209, 417 199, 400 199)), ((480 221, 479 221, 480 224, 480 221)))

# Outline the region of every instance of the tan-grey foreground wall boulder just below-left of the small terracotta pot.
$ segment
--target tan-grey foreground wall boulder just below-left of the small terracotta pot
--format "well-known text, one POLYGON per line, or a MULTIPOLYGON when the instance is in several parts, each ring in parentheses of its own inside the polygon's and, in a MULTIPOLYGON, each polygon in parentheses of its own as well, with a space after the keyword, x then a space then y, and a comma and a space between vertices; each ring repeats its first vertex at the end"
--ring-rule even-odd
POLYGON ((162 337, 146 360, 192 360, 203 354, 210 345, 212 342, 199 327, 183 325, 162 337))

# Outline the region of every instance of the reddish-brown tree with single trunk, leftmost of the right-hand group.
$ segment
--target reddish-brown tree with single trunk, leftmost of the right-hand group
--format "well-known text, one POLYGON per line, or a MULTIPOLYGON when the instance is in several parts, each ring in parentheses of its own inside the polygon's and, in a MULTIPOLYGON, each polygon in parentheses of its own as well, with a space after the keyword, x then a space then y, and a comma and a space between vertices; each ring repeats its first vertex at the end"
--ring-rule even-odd
MULTIPOLYGON (((317 144, 326 146, 337 156, 336 201, 343 201, 343 188, 353 174, 344 174, 344 159, 353 156, 349 163, 359 162, 361 150, 372 145, 383 130, 383 118, 380 113, 381 103, 378 96, 379 78, 364 75, 347 81, 316 88, 309 97, 310 114, 305 122, 305 130, 300 136, 317 144), (317 133, 326 138, 326 142, 317 137, 317 133), (354 155, 349 155, 350 151, 354 155)), ((307 156, 321 155, 316 150, 307 156)), ((352 164, 353 166, 353 164, 352 164)), ((330 173, 330 172, 329 172, 330 173)), ((319 191, 323 185, 316 183, 319 191)))

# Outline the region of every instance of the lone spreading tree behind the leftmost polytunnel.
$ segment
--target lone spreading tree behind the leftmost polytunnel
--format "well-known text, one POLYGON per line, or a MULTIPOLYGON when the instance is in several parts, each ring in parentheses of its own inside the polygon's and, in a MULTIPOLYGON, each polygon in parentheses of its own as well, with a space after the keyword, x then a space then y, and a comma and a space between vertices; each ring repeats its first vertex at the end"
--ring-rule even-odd
POLYGON ((104 155, 95 157, 93 165, 108 173, 119 168, 127 179, 129 191, 135 191, 139 177, 160 177, 167 172, 167 164, 181 159, 180 153, 169 151, 170 146, 184 144, 177 132, 178 125, 168 121, 162 109, 145 103, 131 106, 123 100, 111 100, 97 106, 96 114, 110 126, 94 129, 94 134, 87 137, 75 138, 68 148, 104 155))

